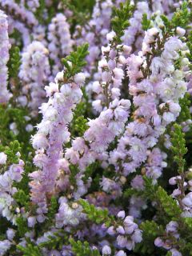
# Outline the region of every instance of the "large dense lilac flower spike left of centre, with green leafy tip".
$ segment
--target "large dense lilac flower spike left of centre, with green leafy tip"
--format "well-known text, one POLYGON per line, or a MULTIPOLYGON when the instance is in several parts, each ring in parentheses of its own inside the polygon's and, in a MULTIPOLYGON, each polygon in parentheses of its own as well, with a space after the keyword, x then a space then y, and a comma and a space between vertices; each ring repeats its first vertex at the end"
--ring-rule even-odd
POLYGON ((40 215, 46 212, 46 198, 56 194, 56 179, 58 178, 59 161, 62 159, 62 146, 70 141, 69 123, 73 119, 73 110, 82 98, 80 87, 84 82, 82 74, 75 74, 76 65, 81 70, 87 47, 79 46, 78 50, 68 56, 71 66, 65 60, 66 68, 59 72, 55 82, 46 86, 48 102, 42 103, 40 113, 42 122, 38 124, 38 132, 32 138, 36 150, 34 164, 39 168, 30 174, 32 201, 37 203, 40 215), (81 79, 79 79, 81 77, 81 79))

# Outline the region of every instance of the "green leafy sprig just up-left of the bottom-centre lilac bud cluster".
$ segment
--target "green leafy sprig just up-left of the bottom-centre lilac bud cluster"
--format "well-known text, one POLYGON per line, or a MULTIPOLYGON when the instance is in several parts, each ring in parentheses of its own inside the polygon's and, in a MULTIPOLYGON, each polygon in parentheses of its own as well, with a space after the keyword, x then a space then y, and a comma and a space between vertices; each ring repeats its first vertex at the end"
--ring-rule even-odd
POLYGON ((106 226, 110 226, 110 223, 114 221, 114 217, 109 216, 109 211, 107 209, 95 207, 83 199, 79 199, 78 202, 82 206, 83 211, 85 214, 87 214, 87 218, 89 218, 91 222, 97 224, 105 223, 106 226))

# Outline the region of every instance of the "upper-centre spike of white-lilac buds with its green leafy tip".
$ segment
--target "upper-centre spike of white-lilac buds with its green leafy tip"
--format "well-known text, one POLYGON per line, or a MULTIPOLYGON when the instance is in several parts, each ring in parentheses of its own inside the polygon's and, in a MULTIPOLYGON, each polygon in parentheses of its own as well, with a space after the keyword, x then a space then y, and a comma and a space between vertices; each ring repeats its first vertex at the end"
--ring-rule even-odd
MULTIPOLYGON (((123 78, 125 78, 126 58, 131 47, 122 44, 122 35, 129 26, 129 18, 133 6, 130 1, 120 3, 120 10, 114 8, 114 17, 111 20, 112 30, 106 34, 106 42, 101 46, 102 55, 98 62, 98 72, 94 73, 93 81, 86 86, 87 94, 93 94, 92 105, 97 112, 102 107, 109 107, 115 98, 120 98, 123 78)), ((99 50, 100 51, 100 50, 99 50)), ((90 95, 91 98, 91 95, 90 95)))

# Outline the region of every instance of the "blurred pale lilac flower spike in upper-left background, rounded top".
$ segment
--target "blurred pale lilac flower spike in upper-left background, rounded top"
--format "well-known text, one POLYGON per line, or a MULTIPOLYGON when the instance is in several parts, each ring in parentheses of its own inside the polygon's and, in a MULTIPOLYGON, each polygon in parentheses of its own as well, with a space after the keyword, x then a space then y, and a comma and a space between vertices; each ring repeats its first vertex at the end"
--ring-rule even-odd
POLYGON ((34 41, 22 53, 21 78, 22 94, 18 97, 21 106, 28 106, 32 116, 38 115, 38 107, 46 98, 45 82, 50 75, 49 51, 42 42, 34 41))

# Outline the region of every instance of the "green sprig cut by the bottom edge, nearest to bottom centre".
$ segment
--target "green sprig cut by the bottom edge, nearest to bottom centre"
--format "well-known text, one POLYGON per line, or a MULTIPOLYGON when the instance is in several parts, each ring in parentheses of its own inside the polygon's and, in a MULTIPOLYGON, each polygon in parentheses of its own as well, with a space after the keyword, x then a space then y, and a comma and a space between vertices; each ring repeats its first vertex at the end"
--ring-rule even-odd
POLYGON ((70 238, 70 244, 72 247, 72 251, 76 256, 100 256, 99 251, 96 249, 90 249, 90 245, 88 242, 75 242, 74 239, 70 238))

